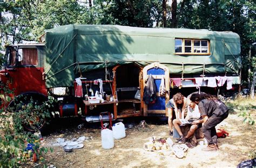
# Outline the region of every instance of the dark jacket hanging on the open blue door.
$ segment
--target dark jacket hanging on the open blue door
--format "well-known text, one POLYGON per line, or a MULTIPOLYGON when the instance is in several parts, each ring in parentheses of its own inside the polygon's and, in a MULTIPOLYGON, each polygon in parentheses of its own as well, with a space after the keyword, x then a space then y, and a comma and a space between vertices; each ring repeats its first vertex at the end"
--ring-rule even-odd
POLYGON ((154 85, 154 78, 150 74, 149 78, 145 81, 146 86, 144 87, 144 94, 143 94, 143 101, 146 104, 156 102, 157 95, 156 95, 156 86, 154 85))

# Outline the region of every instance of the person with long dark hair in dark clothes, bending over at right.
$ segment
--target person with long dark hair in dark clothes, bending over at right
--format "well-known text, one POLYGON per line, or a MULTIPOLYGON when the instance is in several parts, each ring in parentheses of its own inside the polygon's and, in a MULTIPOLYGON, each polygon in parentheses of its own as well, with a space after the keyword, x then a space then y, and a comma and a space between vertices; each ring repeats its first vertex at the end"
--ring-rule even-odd
POLYGON ((198 104, 199 111, 203 120, 202 131, 208 142, 208 146, 203 148, 205 151, 218 150, 217 133, 215 126, 228 116, 227 106, 210 94, 192 94, 190 100, 198 104))

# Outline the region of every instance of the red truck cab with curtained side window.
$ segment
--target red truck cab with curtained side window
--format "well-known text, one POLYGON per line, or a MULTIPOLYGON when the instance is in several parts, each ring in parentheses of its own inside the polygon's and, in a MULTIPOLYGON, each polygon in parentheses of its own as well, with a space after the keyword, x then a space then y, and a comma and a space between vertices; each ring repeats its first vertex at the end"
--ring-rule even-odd
POLYGON ((1 82, 14 90, 14 95, 47 96, 44 73, 44 43, 6 47, 6 62, 0 71, 1 82))

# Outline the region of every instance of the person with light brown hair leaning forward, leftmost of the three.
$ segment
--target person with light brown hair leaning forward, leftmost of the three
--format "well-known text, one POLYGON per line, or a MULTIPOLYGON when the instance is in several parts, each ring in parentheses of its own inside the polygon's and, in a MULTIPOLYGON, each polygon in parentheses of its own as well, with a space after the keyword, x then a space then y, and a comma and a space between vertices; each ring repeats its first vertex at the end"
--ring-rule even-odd
POLYGON ((169 124, 169 134, 172 135, 172 119, 173 119, 173 110, 175 112, 175 116, 178 119, 184 119, 185 109, 186 109, 186 97, 181 93, 177 93, 173 95, 172 99, 166 104, 166 108, 168 109, 168 124, 169 124))

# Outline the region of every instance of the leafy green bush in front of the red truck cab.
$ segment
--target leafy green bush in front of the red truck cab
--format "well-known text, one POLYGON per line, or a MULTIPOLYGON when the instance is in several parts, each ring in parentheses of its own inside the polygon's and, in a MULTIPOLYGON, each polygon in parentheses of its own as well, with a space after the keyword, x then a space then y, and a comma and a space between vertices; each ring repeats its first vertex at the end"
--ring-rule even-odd
POLYGON ((45 123, 50 117, 52 103, 55 101, 49 96, 45 102, 38 102, 32 97, 16 97, 22 100, 15 103, 14 107, 6 106, 10 101, 12 90, 3 86, 1 95, 4 107, 0 109, 0 167, 18 167, 25 165, 31 160, 33 152, 25 151, 28 143, 34 144, 33 151, 37 158, 43 160, 43 153, 48 152, 47 148, 39 148, 39 137, 30 131, 25 131, 29 127, 34 132, 40 129, 40 125, 45 123), (21 99, 22 98, 22 99, 21 99))

